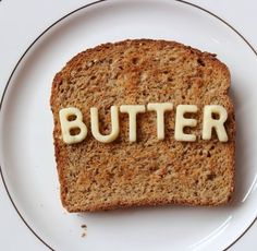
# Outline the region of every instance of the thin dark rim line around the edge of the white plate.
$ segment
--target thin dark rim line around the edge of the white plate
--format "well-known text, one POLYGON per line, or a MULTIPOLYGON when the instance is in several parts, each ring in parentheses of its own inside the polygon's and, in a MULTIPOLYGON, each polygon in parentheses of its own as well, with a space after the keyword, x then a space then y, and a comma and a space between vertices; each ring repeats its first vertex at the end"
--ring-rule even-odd
MULTIPOLYGON (((25 56, 28 53, 28 51, 34 47, 34 45, 45 35, 47 34, 52 27, 54 27, 57 24, 61 23, 63 20, 65 20, 66 17, 86 9, 86 8, 89 8, 91 5, 97 5, 99 3, 102 3, 102 2, 111 2, 112 0, 97 0, 97 1, 93 1, 90 3, 87 3, 87 4, 84 4, 64 15, 62 15, 60 19, 58 19, 56 22, 53 22, 51 25, 49 25, 46 29, 44 29, 34 40, 33 43, 27 47, 27 49, 23 52, 23 55, 20 57, 20 59, 17 60, 15 67, 13 68, 5 85, 4 85, 4 88, 3 88, 3 92, 2 92, 2 95, 1 95, 1 100, 0 100, 0 113, 2 112, 2 106, 3 106, 3 103, 4 103, 4 98, 5 98, 5 94, 8 92, 8 88, 10 86, 10 83, 12 81, 12 77, 15 73, 15 71, 17 70, 19 65, 21 64, 21 62, 23 61, 23 59, 25 58, 25 56)), ((127 0, 125 0, 127 1, 127 0)), ((216 20, 220 21, 221 23, 223 23, 227 27, 229 27, 230 29, 232 29, 236 35, 240 36, 241 39, 243 39, 243 41, 249 47, 249 49, 252 50, 252 52, 254 52, 254 55, 257 57, 257 50, 249 44, 249 41, 235 28, 233 27, 229 22, 227 22, 224 19, 220 17, 219 15, 215 14, 213 12, 207 10, 206 8, 203 8, 196 3, 192 3, 192 2, 187 2, 185 0, 173 0, 174 2, 180 2, 180 3, 183 3, 185 5, 188 5, 188 7, 192 7, 194 9, 197 9, 199 11, 203 11, 207 14, 209 14, 210 16, 215 17, 216 20)), ((1 180, 2 180, 2 183, 3 183, 3 187, 5 189, 5 192, 9 196, 9 200, 11 201, 11 204, 12 206, 14 207, 14 210, 16 211, 17 215, 20 216, 20 218, 22 219, 22 222, 25 224, 25 226, 30 230, 30 232, 42 243, 45 244, 45 247, 47 247, 48 249, 54 251, 54 249, 49 244, 47 243, 30 226, 29 224, 26 222, 26 219, 23 217, 22 213, 19 211, 10 191, 9 191, 9 188, 8 188, 8 184, 7 184, 7 181, 4 179, 4 175, 3 175, 3 171, 2 171, 2 166, 1 166, 1 163, 0 163, 0 176, 1 176, 1 180)), ((257 215, 255 216, 255 218, 253 219, 253 222, 248 225, 248 227, 233 241, 231 242, 228 247, 225 247, 222 251, 227 251, 229 250, 230 248, 232 248, 232 246, 234 246, 250 228, 252 226, 257 222, 257 215)))

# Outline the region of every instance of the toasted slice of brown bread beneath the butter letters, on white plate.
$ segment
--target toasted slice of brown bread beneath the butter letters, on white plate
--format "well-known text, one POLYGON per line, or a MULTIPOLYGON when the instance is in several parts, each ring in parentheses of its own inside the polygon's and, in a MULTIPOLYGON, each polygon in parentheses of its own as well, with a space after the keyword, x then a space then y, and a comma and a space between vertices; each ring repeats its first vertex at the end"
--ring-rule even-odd
POLYGON ((105 44, 75 56, 57 73, 51 91, 56 160, 61 200, 69 212, 179 203, 219 205, 234 190, 235 119, 228 95, 230 72, 215 55, 175 41, 135 39, 105 44), (95 140, 91 107, 99 109, 100 131, 111 130, 112 105, 173 103, 166 112, 166 138, 156 135, 156 113, 137 116, 137 142, 128 142, 127 113, 120 113, 120 134, 112 143, 95 140), (196 142, 174 140, 175 107, 196 105, 196 142), (212 133, 201 139, 205 105, 228 111, 228 142, 212 133), (76 107, 87 138, 65 144, 59 110, 76 107))

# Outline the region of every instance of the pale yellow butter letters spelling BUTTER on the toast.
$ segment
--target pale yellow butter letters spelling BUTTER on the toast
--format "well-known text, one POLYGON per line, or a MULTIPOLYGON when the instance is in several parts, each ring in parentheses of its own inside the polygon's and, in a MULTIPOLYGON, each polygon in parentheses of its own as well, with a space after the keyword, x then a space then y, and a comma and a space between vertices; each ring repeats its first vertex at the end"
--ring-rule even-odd
MULTIPOLYGON (((157 116, 157 139, 164 139, 164 113, 173 109, 172 103, 150 103, 145 105, 122 105, 111 106, 111 132, 103 135, 99 130, 98 109, 90 108, 90 128, 93 136, 102 143, 114 141, 120 133, 119 112, 128 115, 130 142, 136 142, 136 116, 142 112, 155 111, 157 116)), ((179 105, 175 112, 175 130, 174 139, 176 141, 196 141, 196 135, 184 133, 184 128, 194 128, 197 124, 196 119, 185 118, 185 113, 195 113, 198 108, 195 105, 179 105)), ((59 111, 62 140, 66 144, 75 144, 84 141, 87 136, 87 127, 83 122, 82 111, 75 107, 63 108, 59 111), (72 120, 73 118, 73 120, 72 120), (73 135, 72 130, 78 129, 78 133, 73 135)), ((224 128, 224 122, 228 119, 228 112, 224 107, 219 105, 208 105, 204 107, 203 118, 203 140, 210 140, 212 130, 216 130, 219 141, 227 142, 228 134, 224 128), (218 119, 213 118, 218 115, 218 119)))

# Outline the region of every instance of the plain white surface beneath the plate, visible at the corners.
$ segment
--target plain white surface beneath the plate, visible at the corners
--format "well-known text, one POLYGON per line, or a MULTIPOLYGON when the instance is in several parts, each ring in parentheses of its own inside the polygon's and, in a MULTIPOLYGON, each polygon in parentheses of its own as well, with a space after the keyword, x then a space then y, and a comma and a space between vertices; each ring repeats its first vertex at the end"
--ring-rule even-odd
MULTIPOLYGON (((28 45, 50 24, 90 1, 0 1, 0 93, 28 45)), ((257 49, 257 2, 194 0, 228 21, 257 49)), ((47 212, 46 212, 47 214, 47 212)), ((257 224, 231 250, 255 250, 257 224)), ((0 180, 0 250, 47 250, 21 220, 0 180)))

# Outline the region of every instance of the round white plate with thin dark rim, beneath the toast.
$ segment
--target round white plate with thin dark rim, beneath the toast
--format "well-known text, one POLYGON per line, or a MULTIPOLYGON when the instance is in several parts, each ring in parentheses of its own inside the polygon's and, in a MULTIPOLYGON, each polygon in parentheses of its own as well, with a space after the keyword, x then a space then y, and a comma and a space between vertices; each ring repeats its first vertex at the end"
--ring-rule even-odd
POLYGON ((1 104, 1 171, 17 212, 54 250, 223 250, 257 215, 257 56, 228 24, 180 1, 108 1, 56 23, 28 49, 1 104), (59 199, 49 107, 51 81, 77 52, 125 38, 164 38, 216 52, 232 73, 236 191, 227 206, 160 206, 69 214, 59 199), (81 225, 87 237, 82 238, 81 225))

